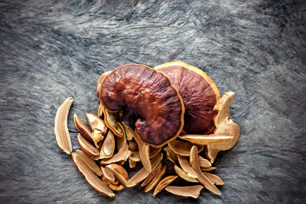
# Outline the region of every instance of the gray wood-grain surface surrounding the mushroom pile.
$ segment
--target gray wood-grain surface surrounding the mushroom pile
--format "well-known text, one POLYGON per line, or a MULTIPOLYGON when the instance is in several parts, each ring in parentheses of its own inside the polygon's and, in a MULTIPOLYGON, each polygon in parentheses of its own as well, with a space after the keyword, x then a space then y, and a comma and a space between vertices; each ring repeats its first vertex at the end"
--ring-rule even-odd
POLYGON ((0 203, 303 203, 304 18, 302 0, 0 1, 0 203), (215 162, 222 195, 153 197, 138 186, 106 198, 57 147, 56 109, 74 97, 75 150, 72 115, 96 112, 103 71, 171 60, 236 93, 241 136, 215 162))

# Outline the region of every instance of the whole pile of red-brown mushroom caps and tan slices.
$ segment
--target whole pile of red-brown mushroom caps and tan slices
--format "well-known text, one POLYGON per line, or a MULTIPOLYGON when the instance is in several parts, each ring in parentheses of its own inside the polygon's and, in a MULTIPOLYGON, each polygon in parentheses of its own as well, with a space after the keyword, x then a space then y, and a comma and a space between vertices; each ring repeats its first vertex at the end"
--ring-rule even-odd
POLYGON ((217 152, 239 138, 239 127, 228 114, 233 92, 220 98, 207 74, 184 62, 154 68, 124 64, 104 72, 97 84, 97 115, 86 113, 90 127, 74 114, 81 150, 72 152, 67 128, 72 97, 57 109, 54 126, 58 146, 72 154, 95 190, 113 197, 113 190, 143 181, 144 191, 154 189, 153 195, 165 189, 196 198, 203 187, 221 194, 216 185, 223 181, 207 171, 216 168, 211 164, 217 152), (166 159, 173 164, 167 166, 166 159), (143 167, 129 178, 125 168, 136 165, 143 167), (167 167, 176 175, 164 176, 167 167), (178 177, 191 185, 170 186, 178 177))

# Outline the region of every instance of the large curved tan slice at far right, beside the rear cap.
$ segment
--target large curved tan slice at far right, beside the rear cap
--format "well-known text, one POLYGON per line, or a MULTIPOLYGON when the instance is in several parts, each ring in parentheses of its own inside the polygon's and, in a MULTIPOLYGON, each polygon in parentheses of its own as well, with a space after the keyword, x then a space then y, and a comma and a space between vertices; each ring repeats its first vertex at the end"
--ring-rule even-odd
POLYGON ((213 163, 216 154, 219 150, 227 150, 235 145, 239 139, 240 129, 239 126, 232 121, 228 114, 229 104, 234 96, 234 92, 226 92, 217 102, 213 108, 213 121, 215 124, 215 135, 227 135, 232 136, 230 140, 226 142, 219 142, 215 144, 207 145, 207 157, 210 162, 213 163))

